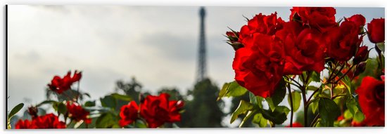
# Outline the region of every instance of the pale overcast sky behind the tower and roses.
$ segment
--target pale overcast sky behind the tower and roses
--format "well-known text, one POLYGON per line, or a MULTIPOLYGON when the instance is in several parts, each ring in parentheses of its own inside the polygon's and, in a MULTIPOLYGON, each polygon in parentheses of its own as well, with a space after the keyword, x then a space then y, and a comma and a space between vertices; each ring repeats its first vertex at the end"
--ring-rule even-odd
MULTIPOLYGON (((206 7, 208 76, 222 86, 233 81, 234 50, 223 34, 246 19, 288 7, 206 7)), ((8 107, 24 98, 37 104, 54 75, 82 70, 81 90, 98 99, 117 80, 132 76, 146 91, 195 82, 199 7, 190 6, 8 6, 8 107)), ((383 8, 336 8, 336 20, 361 13, 384 18, 383 8)), ((364 43, 370 44, 367 38, 364 43)), ((370 44, 370 46, 373 46, 370 44)), ((27 104, 28 105, 28 104, 27 104)))

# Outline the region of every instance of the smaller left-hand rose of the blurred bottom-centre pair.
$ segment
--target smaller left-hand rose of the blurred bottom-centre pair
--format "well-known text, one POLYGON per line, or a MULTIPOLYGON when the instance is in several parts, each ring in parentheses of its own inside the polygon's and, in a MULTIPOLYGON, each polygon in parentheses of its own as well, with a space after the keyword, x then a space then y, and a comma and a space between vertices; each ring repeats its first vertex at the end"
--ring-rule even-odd
POLYGON ((127 126, 133 121, 136 121, 139 112, 139 106, 135 101, 129 102, 128 105, 123 105, 120 112, 120 126, 127 126))

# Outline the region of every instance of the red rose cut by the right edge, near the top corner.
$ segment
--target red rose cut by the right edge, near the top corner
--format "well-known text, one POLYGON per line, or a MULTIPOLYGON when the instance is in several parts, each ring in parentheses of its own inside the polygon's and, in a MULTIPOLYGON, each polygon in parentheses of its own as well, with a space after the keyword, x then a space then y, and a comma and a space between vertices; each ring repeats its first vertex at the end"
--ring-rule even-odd
POLYGON ((367 25, 368 38, 372 43, 384 42, 384 18, 374 19, 367 25))

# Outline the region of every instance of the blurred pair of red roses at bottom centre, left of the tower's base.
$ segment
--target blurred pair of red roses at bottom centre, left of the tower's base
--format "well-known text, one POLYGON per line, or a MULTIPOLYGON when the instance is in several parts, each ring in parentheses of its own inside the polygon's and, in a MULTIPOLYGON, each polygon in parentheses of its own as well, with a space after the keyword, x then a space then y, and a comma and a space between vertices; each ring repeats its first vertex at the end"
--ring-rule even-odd
POLYGON ((170 98, 170 95, 167 93, 161 93, 159 96, 148 95, 144 100, 141 100, 140 105, 132 101, 128 105, 122 106, 120 126, 127 126, 137 119, 145 119, 150 128, 157 128, 165 122, 180 121, 179 111, 182 109, 184 102, 169 100, 168 98, 170 98))

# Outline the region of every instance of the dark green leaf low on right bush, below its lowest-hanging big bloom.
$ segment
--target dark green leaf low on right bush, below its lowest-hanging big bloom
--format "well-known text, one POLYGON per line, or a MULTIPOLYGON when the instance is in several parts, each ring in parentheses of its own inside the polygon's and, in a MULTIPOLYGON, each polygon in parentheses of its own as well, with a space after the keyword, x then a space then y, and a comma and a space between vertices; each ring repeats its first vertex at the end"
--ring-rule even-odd
MULTIPOLYGON (((287 108, 287 107, 286 107, 287 108)), ((265 119, 268 119, 269 121, 272 121, 276 124, 281 124, 286 121, 286 111, 289 112, 290 110, 282 111, 284 110, 284 106, 279 106, 275 108, 274 112, 271 110, 262 110, 262 116, 265 117, 265 119)))

